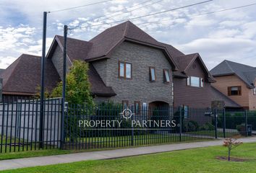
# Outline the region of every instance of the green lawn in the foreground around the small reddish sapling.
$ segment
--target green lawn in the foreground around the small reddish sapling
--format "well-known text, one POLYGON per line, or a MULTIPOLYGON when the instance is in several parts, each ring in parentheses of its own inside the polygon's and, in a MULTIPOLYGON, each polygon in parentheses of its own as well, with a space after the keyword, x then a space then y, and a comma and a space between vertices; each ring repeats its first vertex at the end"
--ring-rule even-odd
POLYGON ((80 161, 32 167, 5 172, 255 172, 256 143, 244 143, 234 149, 231 156, 250 159, 244 162, 219 161, 216 156, 226 156, 223 146, 171 151, 162 154, 133 156, 122 159, 80 161))

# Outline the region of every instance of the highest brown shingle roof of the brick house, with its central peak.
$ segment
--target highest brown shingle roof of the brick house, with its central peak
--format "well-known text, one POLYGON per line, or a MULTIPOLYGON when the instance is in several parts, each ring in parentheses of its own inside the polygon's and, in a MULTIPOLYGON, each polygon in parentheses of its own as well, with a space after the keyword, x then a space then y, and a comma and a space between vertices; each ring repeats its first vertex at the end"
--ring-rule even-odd
MULTIPOLYGON (((47 57, 51 57, 52 53, 54 53, 57 43, 59 43, 63 50, 63 40, 62 36, 56 35, 54 37, 54 42, 51 44, 47 57)), ((129 21, 104 30, 88 42, 68 37, 67 55, 70 60, 74 58, 85 61, 95 61, 101 58, 110 58, 111 53, 116 46, 124 41, 148 45, 150 47, 163 50, 163 53, 166 54, 171 65, 174 69, 178 70, 174 57, 177 55, 181 56, 183 54, 171 45, 158 42, 129 21)))

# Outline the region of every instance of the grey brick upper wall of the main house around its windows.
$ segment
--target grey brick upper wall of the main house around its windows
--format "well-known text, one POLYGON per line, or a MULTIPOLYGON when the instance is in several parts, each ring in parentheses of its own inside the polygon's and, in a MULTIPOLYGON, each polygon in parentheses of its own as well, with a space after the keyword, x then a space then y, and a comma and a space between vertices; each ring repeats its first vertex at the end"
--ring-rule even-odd
MULTIPOLYGON (((156 48, 124 42, 119 45, 106 60, 107 63, 94 63, 98 74, 102 76, 107 86, 112 86, 115 97, 109 99, 115 102, 128 100, 129 105, 135 101, 150 103, 155 101, 167 102, 172 105, 171 82, 163 82, 163 69, 170 70, 169 63, 163 52, 156 48), (120 79, 119 61, 132 63, 132 79, 120 79), (107 64, 107 66, 106 66, 107 64), (149 67, 155 67, 156 81, 150 81, 149 67), (106 75, 106 76, 105 76, 106 75)), ((103 101, 108 98, 98 98, 103 101)))

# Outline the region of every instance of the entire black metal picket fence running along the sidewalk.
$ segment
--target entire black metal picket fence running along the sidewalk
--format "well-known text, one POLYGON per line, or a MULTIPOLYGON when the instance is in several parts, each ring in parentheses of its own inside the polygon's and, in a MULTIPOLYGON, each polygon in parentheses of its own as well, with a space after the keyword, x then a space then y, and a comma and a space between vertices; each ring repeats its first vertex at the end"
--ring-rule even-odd
POLYGON ((256 133, 256 111, 67 104, 62 114, 61 103, 61 98, 45 99, 40 117, 39 99, 20 97, 1 102, 0 153, 117 148, 256 133))

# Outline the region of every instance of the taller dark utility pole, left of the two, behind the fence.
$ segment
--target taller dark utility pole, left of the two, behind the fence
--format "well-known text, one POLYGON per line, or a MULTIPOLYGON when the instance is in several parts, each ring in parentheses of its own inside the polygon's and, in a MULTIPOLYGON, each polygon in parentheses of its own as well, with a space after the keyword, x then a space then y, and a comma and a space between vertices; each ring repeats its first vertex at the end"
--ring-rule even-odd
POLYGON ((40 148, 43 148, 44 66, 45 66, 45 58, 46 58, 46 25, 47 25, 47 12, 43 12, 43 45, 42 45, 42 57, 41 57, 40 125, 39 125, 40 148))

